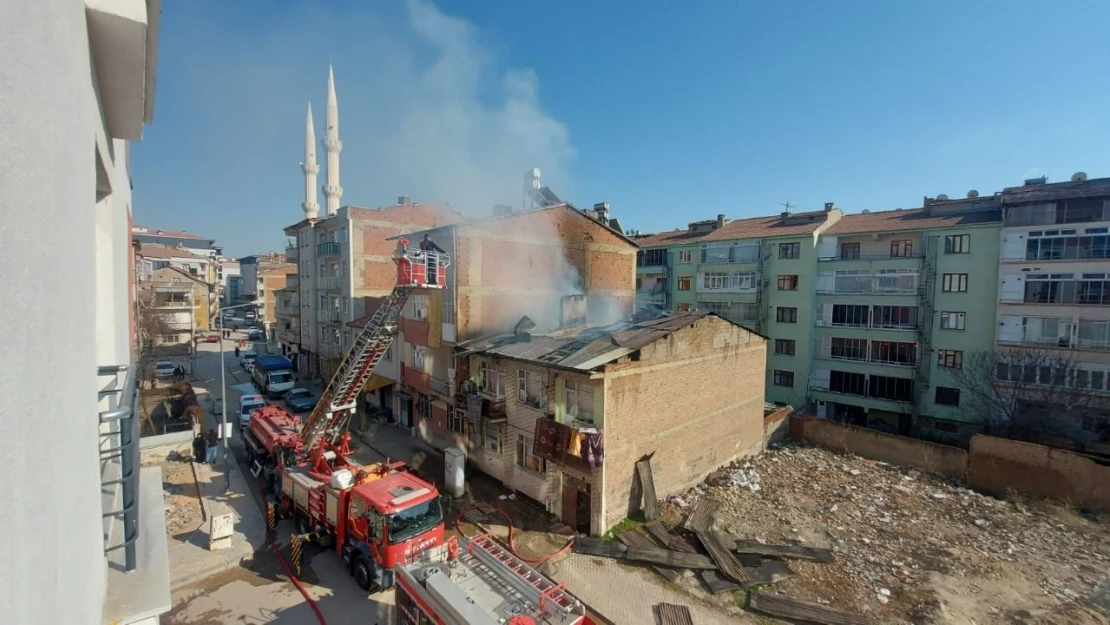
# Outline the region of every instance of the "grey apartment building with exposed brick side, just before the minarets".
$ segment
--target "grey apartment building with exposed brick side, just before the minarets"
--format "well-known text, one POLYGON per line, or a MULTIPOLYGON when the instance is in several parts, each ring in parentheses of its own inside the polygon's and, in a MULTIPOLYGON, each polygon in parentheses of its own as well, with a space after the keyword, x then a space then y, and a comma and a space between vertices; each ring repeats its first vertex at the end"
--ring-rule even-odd
POLYGON ((461 219, 450 209, 402 196, 392 206, 342 206, 333 216, 287 226, 285 258, 296 262, 296 273, 286 281, 278 326, 283 351, 300 354, 299 371, 330 377, 351 346, 347 323, 373 312, 365 299, 393 291, 396 241, 390 238, 461 219))

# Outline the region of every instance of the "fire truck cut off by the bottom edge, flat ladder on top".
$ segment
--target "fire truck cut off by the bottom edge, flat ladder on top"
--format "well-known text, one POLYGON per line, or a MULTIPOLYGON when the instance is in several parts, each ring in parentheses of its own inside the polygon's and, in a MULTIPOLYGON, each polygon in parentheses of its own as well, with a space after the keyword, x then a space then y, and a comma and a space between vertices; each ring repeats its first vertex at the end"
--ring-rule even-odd
POLYGON ((397 565, 393 625, 595 625, 586 607, 490 534, 397 565))

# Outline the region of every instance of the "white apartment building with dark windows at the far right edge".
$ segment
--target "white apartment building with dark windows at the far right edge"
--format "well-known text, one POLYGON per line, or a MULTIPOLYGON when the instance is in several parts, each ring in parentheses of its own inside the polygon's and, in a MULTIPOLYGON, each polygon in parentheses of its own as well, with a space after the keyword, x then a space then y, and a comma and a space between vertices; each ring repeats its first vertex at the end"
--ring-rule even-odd
POLYGON ((999 380, 1027 385, 1022 411, 1068 406, 1076 436, 1110 453, 1110 179, 1027 180, 1001 202, 996 339, 1000 354, 1027 355, 1000 363, 999 380), (1070 405, 1077 395, 1097 401, 1070 405))

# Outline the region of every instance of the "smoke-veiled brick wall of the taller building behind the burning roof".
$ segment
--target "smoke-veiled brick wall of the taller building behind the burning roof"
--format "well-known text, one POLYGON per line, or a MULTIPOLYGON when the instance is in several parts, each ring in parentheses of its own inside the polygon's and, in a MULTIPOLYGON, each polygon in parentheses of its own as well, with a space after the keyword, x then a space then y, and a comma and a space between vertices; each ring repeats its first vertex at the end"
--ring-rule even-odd
POLYGON ((461 341, 506 332, 523 315, 552 330, 559 300, 577 289, 613 298, 622 315, 633 311, 636 248, 574 209, 458 226, 455 250, 461 341))

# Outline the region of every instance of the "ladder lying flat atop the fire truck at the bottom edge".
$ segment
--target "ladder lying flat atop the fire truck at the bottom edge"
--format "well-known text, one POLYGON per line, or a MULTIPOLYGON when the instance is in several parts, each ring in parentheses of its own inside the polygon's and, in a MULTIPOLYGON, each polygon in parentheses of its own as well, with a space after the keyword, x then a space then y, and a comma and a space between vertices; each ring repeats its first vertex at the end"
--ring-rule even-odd
POLYGON ((585 614, 585 606, 567 594, 563 584, 556 584, 541 575, 497 543, 493 534, 468 538, 466 552, 512 586, 525 599, 536 605, 541 613, 562 617, 585 614))

